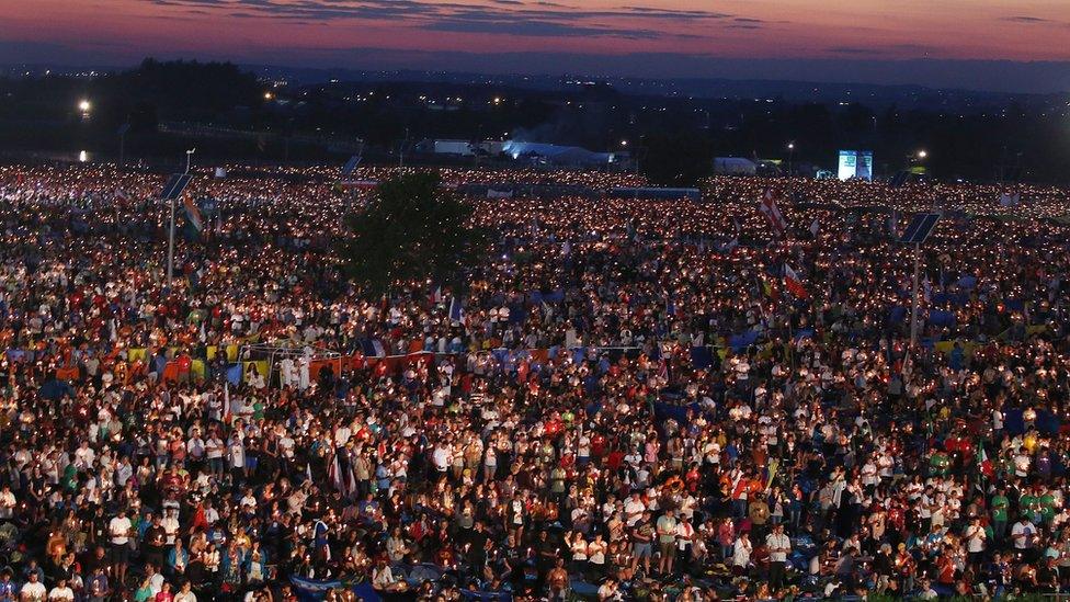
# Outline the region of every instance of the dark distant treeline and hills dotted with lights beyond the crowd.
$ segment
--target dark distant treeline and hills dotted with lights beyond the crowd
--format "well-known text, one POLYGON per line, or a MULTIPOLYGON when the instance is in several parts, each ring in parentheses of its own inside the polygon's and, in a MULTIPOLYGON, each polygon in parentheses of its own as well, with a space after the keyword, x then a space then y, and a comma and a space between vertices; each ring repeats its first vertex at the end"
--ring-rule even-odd
POLYGON ((901 111, 863 103, 637 95, 608 86, 559 91, 425 81, 280 87, 231 64, 153 59, 93 78, 0 79, 0 145, 9 152, 87 149, 113 159, 124 124, 127 160, 191 144, 204 160, 341 161, 350 152, 350 146, 310 145, 311 137, 360 138, 371 159, 395 160, 402 149, 411 156, 424 138, 512 137, 628 150, 654 182, 672 185, 693 184, 717 156, 832 169, 841 148, 873 150, 878 175, 909 166, 910 157, 925 149, 925 167, 937 178, 1070 181, 1070 107, 1062 103, 901 111), (88 115, 78 107, 82 99, 91 103, 88 115), (168 122, 251 135, 181 139, 174 128, 159 130, 168 122))

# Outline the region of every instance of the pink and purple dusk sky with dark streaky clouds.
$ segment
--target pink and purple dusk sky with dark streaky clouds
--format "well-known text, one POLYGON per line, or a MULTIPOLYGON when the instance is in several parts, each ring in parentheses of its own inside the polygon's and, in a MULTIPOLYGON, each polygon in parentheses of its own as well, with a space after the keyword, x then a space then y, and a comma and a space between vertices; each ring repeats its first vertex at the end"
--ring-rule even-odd
POLYGON ((0 63, 1070 91, 1070 0, 0 0, 0 63))

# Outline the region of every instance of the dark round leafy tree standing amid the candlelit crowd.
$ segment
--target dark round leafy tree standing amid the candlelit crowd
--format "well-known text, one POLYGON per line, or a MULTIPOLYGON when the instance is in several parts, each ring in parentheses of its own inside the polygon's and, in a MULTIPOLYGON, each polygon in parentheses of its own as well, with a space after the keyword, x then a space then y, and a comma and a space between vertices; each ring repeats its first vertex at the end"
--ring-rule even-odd
POLYGON ((437 173, 395 175, 346 216, 345 270, 368 293, 412 280, 446 283, 476 261, 483 235, 473 207, 440 184, 437 173))

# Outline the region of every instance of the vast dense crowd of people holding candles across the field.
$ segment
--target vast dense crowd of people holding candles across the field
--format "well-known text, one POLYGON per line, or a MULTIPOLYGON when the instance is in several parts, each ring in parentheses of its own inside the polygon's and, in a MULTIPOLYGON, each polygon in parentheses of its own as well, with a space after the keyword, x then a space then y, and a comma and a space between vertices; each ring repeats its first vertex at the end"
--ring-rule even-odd
POLYGON ((371 297, 374 192, 197 172, 169 285, 162 183, 0 168, 0 602, 1068 591, 1067 191, 473 198, 485 261, 371 297))

